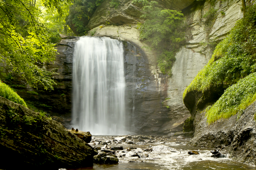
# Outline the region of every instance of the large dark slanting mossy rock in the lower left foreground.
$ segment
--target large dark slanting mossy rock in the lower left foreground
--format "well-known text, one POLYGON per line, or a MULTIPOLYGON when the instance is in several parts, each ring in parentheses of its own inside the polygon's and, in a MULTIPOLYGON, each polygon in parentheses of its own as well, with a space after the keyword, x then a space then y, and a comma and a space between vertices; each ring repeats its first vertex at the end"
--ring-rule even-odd
POLYGON ((1 169, 85 167, 97 154, 60 123, 2 97, 0 137, 1 169))

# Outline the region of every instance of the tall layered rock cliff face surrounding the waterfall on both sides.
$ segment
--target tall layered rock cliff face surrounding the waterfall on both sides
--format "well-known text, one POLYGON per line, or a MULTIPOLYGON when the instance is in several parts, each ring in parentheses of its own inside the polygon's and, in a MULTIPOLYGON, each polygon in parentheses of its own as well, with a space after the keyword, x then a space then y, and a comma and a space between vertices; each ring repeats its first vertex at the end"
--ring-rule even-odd
MULTIPOLYGON (((88 23, 91 28, 89 35, 124 41, 127 114, 132 117, 130 130, 142 134, 171 134, 182 131, 184 120, 190 116, 183 104, 183 92, 209 61, 215 43, 225 37, 235 22, 243 16, 241 1, 215 1, 214 4, 208 0, 159 1, 164 8, 182 10, 189 25, 186 32, 187 42, 176 54, 172 77, 159 71, 156 53, 139 40, 136 24, 143 22, 139 18, 141 5, 121 0, 115 9, 109 7, 109 2, 110 0, 104 1, 91 17, 88 23), (207 24, 204 16, 212 8, 216 11, 210 18, 211 24, 207 24)), ((56 61, 46 65, 48 70, 55 69, 59 73, 54 76, 58 82, 54 91, 46 93, 35 90, 38 95, 29 96, 18 91, 22 97, 24 95, 34 100, 42 96, 37 106, 43 109, 47 109, 43 106, 49 106, 52 113, 62 113, 56 115, 69 118, 58 118, 62 123, 68 122, 71 115, 72 51, 76 41, 76 38, 62 40, 58 45, 56 61)))

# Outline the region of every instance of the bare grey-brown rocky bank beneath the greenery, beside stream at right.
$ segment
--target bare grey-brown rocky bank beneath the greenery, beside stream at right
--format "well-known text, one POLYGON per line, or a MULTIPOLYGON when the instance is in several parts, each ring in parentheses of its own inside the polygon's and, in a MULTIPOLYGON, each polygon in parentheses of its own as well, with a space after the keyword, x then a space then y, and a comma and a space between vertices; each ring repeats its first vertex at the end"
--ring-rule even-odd
POLYGON ((194 119, 194 137, 189 144, 198 147, 218 148, 229 153, 229 157, 234 160, 255 165, 255 108, 256 102, 247 107, 239 118, 234 115, 210 125, 206 122, 205 112, 198 110, 194 119))

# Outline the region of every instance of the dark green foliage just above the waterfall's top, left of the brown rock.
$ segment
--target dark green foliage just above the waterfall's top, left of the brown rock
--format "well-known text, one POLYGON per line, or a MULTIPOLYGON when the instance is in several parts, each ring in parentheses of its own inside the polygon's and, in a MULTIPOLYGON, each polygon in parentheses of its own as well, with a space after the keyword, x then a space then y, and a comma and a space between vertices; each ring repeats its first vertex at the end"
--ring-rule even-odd
POLYGON ((76 0, 69 7, 69 16, 66 23, 77 36, 82 36, 89 31, 86 27, 92 14, 103 0, 76 0))

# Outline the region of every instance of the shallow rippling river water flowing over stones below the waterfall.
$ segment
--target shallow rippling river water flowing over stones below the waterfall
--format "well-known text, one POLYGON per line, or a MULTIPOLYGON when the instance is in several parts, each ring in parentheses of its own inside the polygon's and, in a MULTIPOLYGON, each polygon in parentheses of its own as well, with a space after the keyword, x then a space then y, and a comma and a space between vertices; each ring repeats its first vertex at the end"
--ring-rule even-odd
MULTIPOLYGON (((117 164, 95 164, 93 167, 77 168, 76 170, 238 170, 256 169, 251 165, 246 165, 238 161, 233 161, 228 153, 226 157, 211 157, 212 149, 195 148, 188 146, 190 139, 167 136, 93 136, 92 146, 101 147, 102 150, 113 147, 123 147, 123 150, 116 150, 115 155, 119 159, 117 164), (101 142, 107 145, 101 145, 101 142), (127 144, 133 142, 133 144, 127 144), (152 148, 152 151, 145 151, 152 148), (189 155, 191 150, 198 151, 198 155, 189 155), (148 155, 145 158, 129 156, 128 152, 143 153, 148 155)), ((101 150, 98 150, 101 153, 101 150)), ((224 150, 220 152, 224 153, 224 150)))

